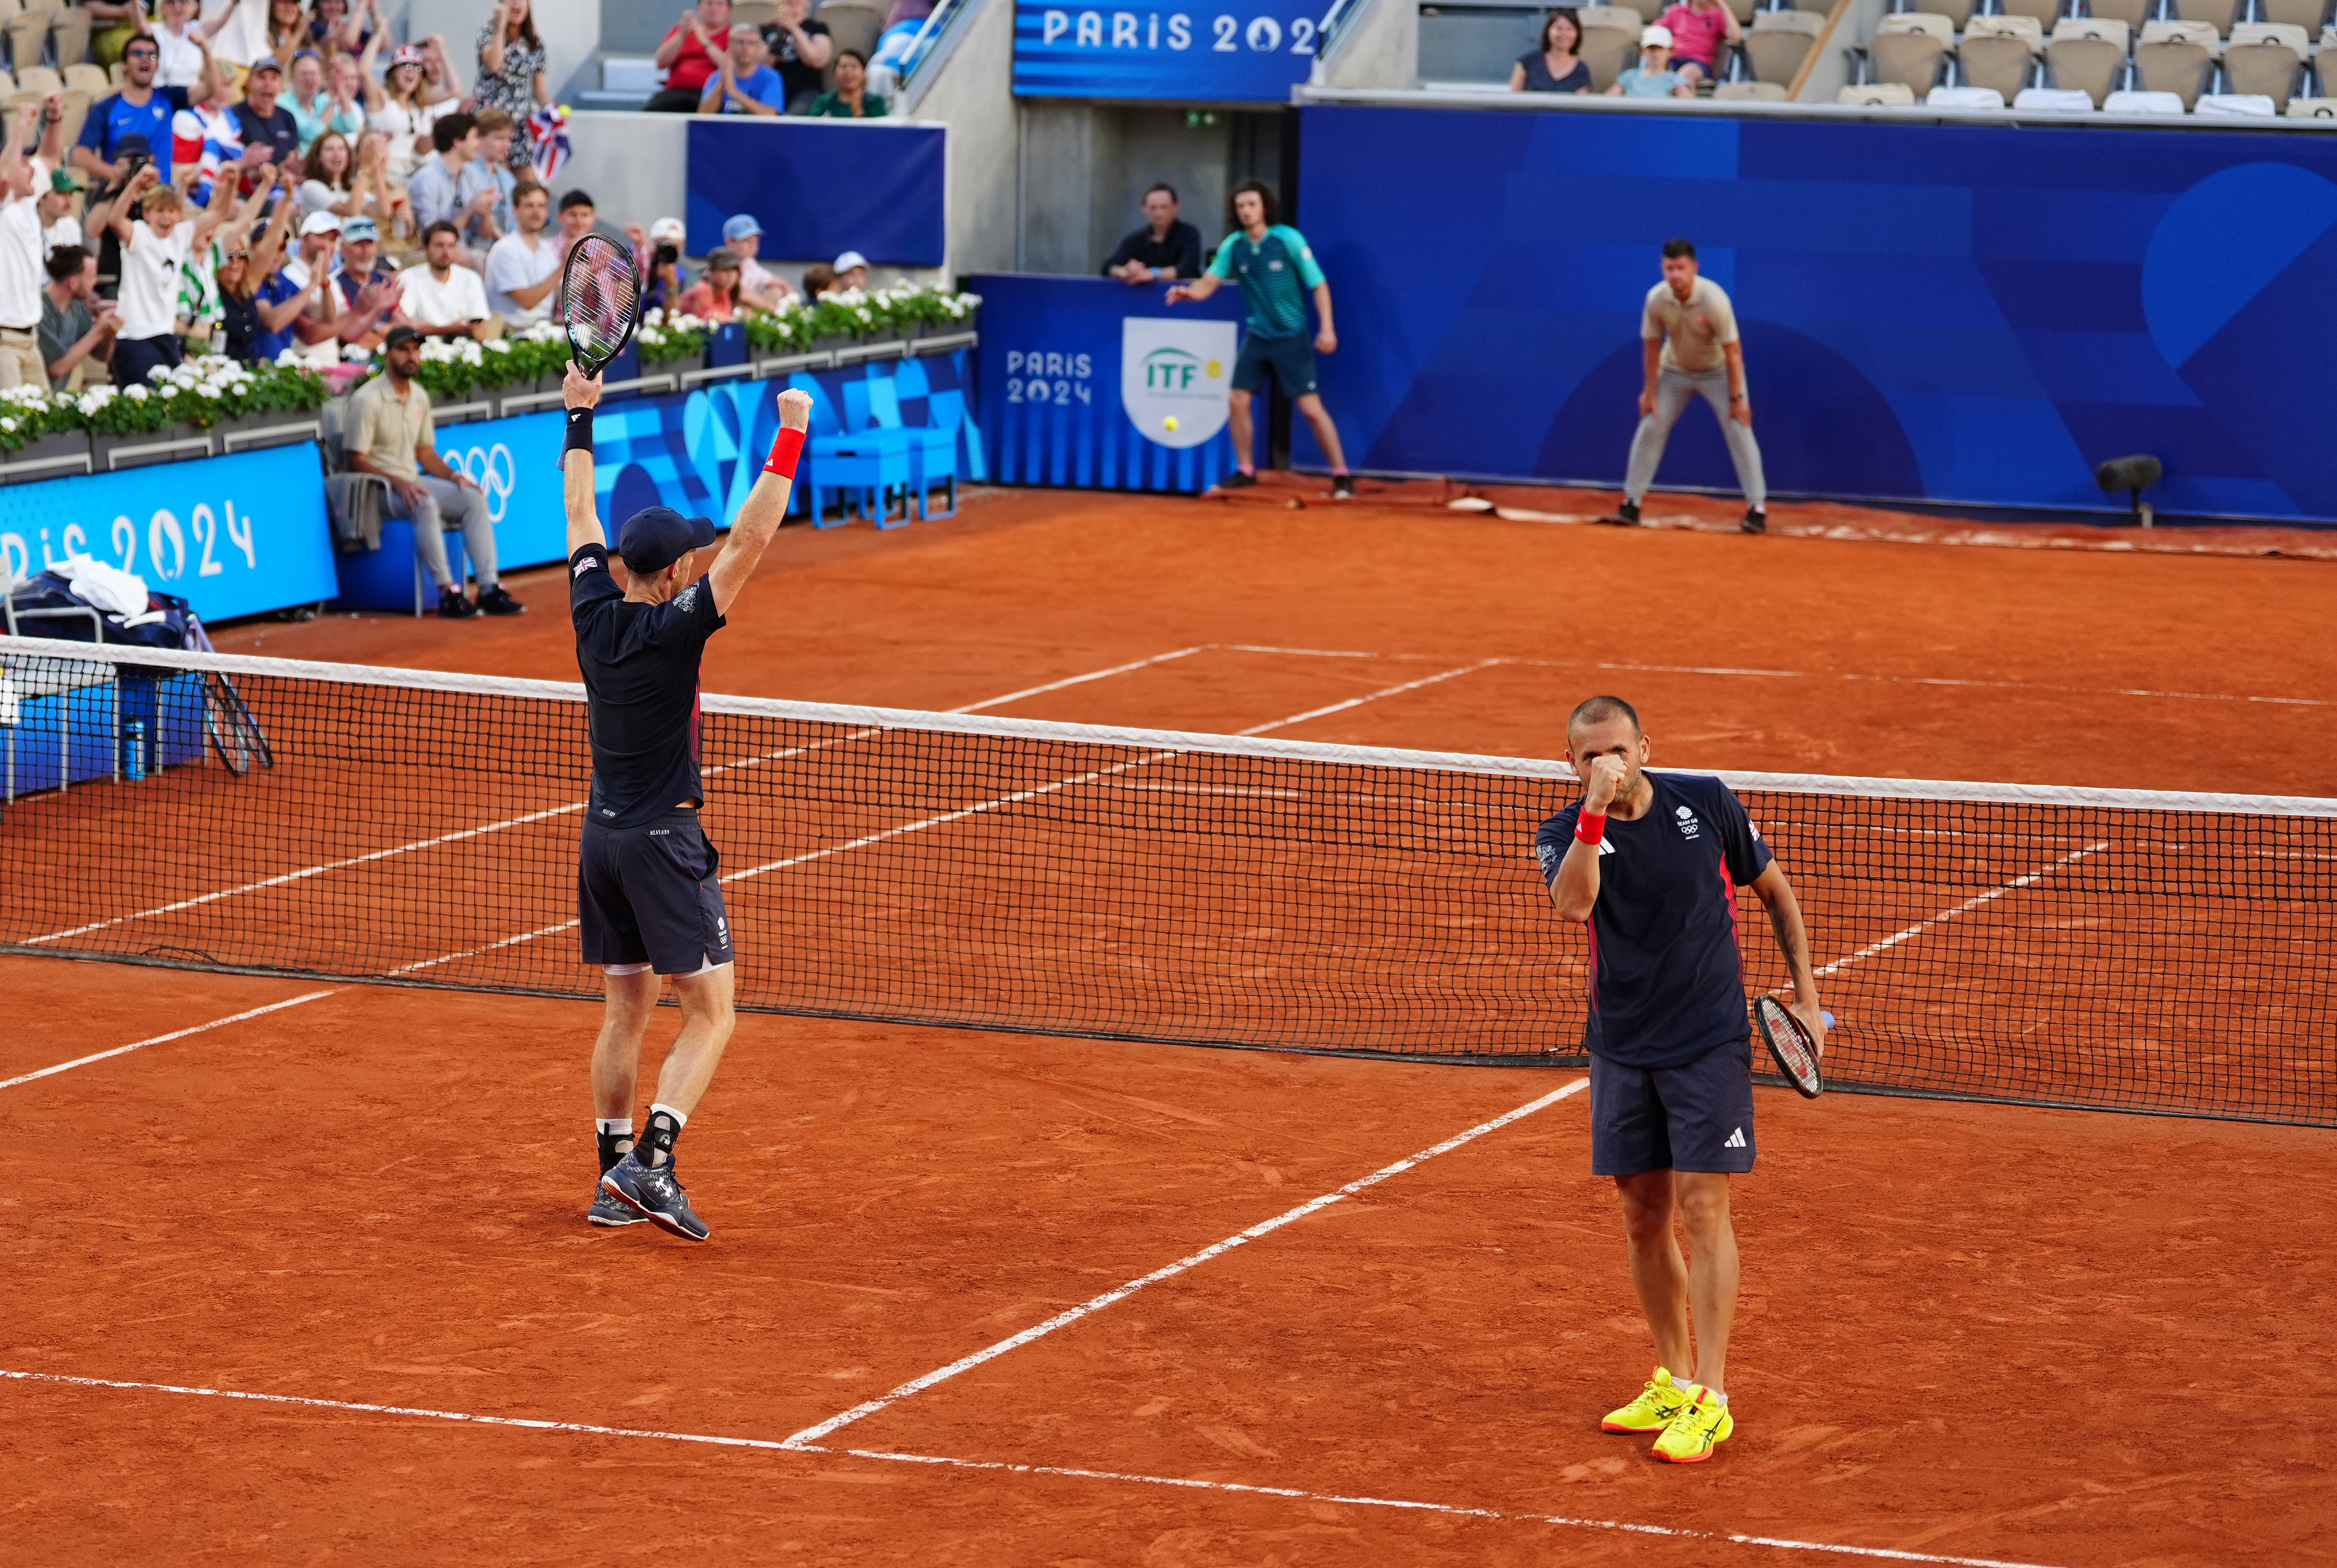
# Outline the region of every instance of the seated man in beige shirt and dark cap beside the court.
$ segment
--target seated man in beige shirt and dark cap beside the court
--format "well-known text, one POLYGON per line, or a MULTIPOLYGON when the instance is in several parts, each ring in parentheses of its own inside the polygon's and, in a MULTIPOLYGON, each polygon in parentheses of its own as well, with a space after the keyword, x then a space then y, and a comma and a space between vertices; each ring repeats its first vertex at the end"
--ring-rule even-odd
POLYGON ((383 516, 414 519, 414 554, 439 584, 439 615, 453 622, 481 610, 519 615, 526 605, 495 582, 495 526, 486 519, 486 493, 437 456, 430 393, 414 379, 421 367, 423 334, 390 327, 381 344, 381 374, 348 400, 348 465, 390 481, 383 516), (446 528, 463 530, 479 603, 463 598, 463 584, 446 570, 446 528))

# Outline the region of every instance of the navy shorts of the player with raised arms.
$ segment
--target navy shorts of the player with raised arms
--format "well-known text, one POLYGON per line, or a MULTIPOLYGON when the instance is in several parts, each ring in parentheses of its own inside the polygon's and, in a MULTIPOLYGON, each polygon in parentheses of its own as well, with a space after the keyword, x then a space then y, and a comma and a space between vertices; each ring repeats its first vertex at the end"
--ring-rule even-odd
POLYGON ((584 823, 577 846, 577 921, 584 963, 650 965, 696 974, 736 953, 696 811, 668 811, 645 827, 584 823))

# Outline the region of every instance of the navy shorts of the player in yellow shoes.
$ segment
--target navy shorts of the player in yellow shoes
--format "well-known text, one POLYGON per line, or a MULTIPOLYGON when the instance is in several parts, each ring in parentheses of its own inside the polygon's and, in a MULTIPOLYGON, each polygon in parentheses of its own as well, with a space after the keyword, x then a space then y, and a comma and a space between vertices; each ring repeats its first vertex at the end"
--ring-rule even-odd
POLYGON ((1678 1068, 1591 1056, 1591 1175, 1750 1168, 1750 1035, 1678 1068))

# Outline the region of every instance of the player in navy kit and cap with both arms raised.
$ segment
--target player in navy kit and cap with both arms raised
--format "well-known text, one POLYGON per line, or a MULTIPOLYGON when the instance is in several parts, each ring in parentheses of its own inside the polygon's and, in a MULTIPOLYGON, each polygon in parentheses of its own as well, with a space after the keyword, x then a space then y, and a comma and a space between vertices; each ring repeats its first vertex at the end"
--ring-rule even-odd
POLYGON ((594 1224, 654 1220, 675 1236, 706 1241, 706 1222, 673 1173, 673 1145, 731 1035, 736 951, 715 874, 720 855, 699 823, 706 804, 699 659, 788 516, 811 397, 778 395, 771 458, 703 577, 694 556, 715 542, 715 526, 671 507, 645 507, 617 530, 626 577, 619 587, 594 488, 591 411, 601 402, 601 379, 570 367, 566 393, 568 601, 591 715, 577 916, 584 963, 601 965, 608 993, 591 1054, 601 1187, 587 1217, 594 1224), (671 977, 680 995, 682 1033, 657 1075, 657 1101, 636 1147, 640 1040, 657 1012, 659 977, 671 977))

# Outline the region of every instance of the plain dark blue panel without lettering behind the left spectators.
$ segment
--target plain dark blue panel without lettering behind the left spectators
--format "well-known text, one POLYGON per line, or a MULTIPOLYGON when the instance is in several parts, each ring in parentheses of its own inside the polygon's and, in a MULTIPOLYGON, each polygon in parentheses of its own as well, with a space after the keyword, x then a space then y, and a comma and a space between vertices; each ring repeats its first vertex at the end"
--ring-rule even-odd
POLYGON ((769 259, 858 250, 881 266, 939 266, 949 250, 942 126, 823 119, 689 122, 689 255, 722 243, 722 220, 762 224, 769 259))

